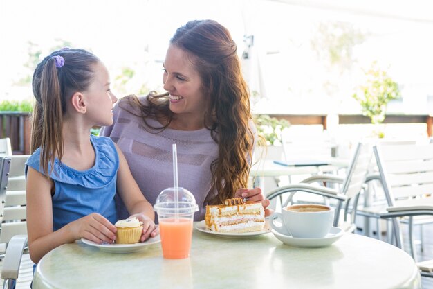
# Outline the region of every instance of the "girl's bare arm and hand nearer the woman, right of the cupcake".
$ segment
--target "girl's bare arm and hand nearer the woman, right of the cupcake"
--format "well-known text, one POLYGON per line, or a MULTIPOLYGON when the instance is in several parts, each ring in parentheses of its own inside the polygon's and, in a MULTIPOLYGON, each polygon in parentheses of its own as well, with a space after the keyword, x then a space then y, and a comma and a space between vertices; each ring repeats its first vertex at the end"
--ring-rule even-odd
POLYGON ((119 155, 118 182, 116 184, 116 189, 118 190, 120 198, 122 198, 129 213, 143 222, 143 234, 140 239, 140 241, 143 242, 149 238, 149 236, 154 237, 158 234, 154 223, 154 208, 146 200, 138 187, 136 180, 133 178, 131 170, 129 170, 127 164, 127 159, 125 159, 125 155, 123 155, 117 145, 116 149, 118 150, 119 155))

